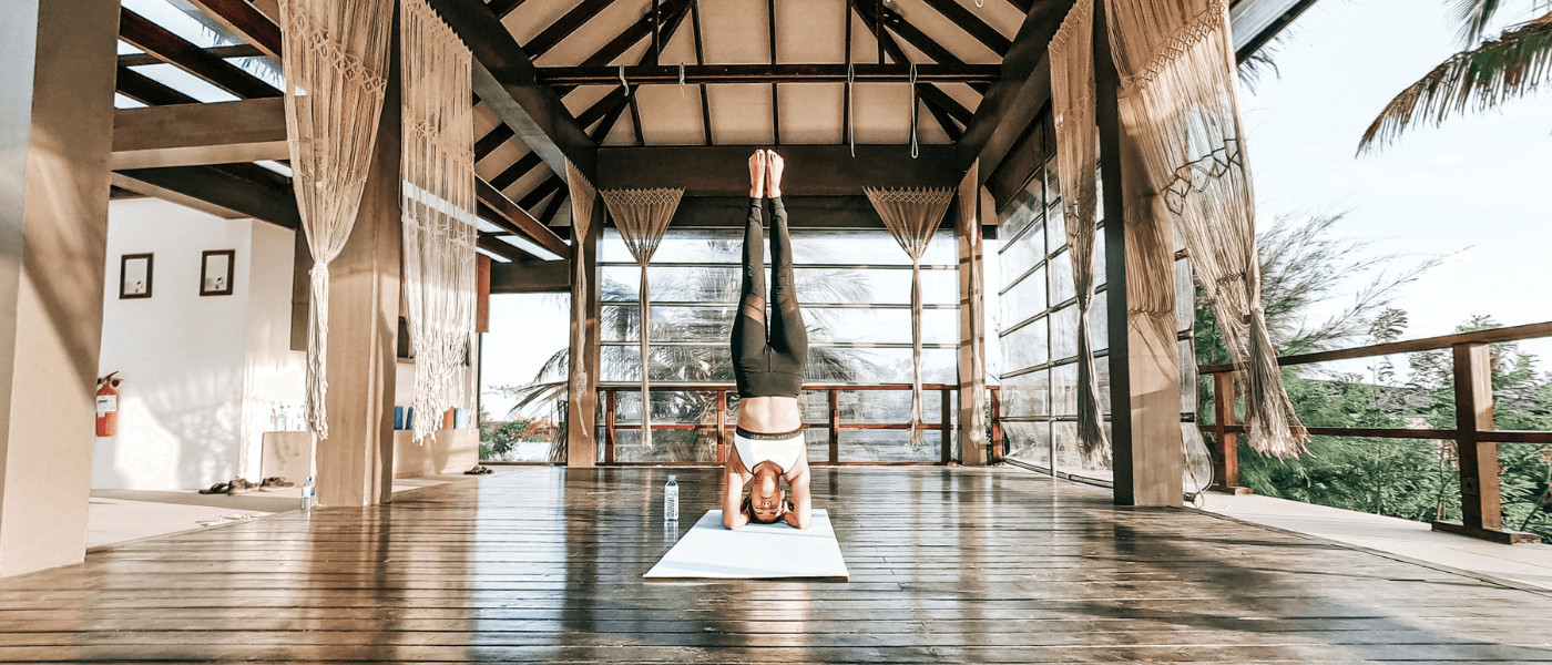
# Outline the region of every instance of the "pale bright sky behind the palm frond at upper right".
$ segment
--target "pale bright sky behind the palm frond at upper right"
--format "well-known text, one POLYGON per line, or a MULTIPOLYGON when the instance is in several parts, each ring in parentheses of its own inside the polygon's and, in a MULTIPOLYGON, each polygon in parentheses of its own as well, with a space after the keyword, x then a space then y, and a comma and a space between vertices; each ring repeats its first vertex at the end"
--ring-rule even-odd
MULTIPOLYGON (((1552 95, 1414 127, 1353 157, 1380 109, 1456 53, 1445 0, 1321 0, 1274 53, 1277 73, 1242 87, 1257 217, 1346 211, 1336 233, 1375 254, 1443 265, 1400 290, 1403 339, 1446 335, 1473 315, 1552 321, 1552 95)), ((1507 0, 1502 23, 1530 17, 1507 0)), ((1493 34, 1502 29, 1495 26, 1493 34)), ((1350 304, 1361 287, 1316 316, 1350 304)), ((1524 343, 1552 369, 1552 339, 1524 343)))

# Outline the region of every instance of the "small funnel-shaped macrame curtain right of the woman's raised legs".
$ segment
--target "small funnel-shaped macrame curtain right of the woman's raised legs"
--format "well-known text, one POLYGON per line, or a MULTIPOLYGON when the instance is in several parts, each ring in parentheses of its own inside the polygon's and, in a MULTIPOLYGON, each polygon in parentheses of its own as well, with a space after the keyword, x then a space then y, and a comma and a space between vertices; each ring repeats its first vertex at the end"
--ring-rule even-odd
POLYGON ((863 192, 911 257, 911 445, 916 446, 927 439, 922 431, 922 254, 944 222, 954 191, 863 188, 863 192))

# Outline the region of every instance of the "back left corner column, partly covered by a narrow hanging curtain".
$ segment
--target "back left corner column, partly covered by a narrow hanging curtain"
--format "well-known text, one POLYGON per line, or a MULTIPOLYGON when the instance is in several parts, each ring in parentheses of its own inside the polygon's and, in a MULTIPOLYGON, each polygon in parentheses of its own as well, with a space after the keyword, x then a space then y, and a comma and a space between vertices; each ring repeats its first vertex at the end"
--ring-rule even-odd
POLYGON ((580 298, 584 301, 582 310, 587 316, 582 321, 571 321, 573 336, 576 339, 577 326, 582 327, 582 336, 587 343, 582 349, 573 347, 570 350, 568 361, 571 366, 587 367, 588 384, 580 395, 570 395, 566 400, 566 467, 587 468, 598 463, 598 436, 594 434, 594 423, 598 422, 598 381, 599 381, 599 279, 602 273, 598 270, 598 242, 604 236, 604 206, 593 206, 593 223, 588 225, 588 233, 585 239, 574 239, 571 245, 571 260, 580 260, 582 270, 587 271, 587 288, 584 291, 577 290, 576 279, 571 281, 571 298, 580 298))

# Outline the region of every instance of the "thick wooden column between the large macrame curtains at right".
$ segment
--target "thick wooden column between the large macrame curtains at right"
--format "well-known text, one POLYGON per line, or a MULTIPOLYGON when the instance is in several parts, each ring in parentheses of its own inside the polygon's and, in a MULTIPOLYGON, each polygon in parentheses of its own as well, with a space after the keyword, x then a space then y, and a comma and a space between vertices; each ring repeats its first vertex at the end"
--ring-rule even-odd
POLYGON ((1181 505, 1173 226, 1121 122, 1105 3, 1094 3, 1094 84, 1105 183, 1105 293, 1117 505, 1181 505), (1119 184, 1119 186, 1117 186, 1119 184))

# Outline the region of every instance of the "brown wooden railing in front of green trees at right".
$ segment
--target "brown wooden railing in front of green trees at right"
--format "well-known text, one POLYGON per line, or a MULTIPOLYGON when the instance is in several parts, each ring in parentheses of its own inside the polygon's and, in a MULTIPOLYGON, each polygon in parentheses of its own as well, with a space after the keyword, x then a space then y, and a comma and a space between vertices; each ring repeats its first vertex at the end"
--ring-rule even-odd
MULTIPOLYGON (((1436 521, 1434 530, 1462 533, 1498 543, 1535 543, 1530 533, 1504 529, 1502 491, 1498 471, 1499 443, 1552 443, 1552 432, 1495 429, 1493 366, 1488 344, 1552 336, 1552 322, 1474 330, 1423 339, 1363 346, 1319 353, 1287 355, 1277 364, 1311 364, 1336 360, 1374 358, 1392 353, 1451 349, 1454 353, 1454 429, 1397 428, 1308 428, 1313 436, 1350 436, 1384 439, 1448 439, 1456 442, 1460 467, 1460 522, 1436 521)), ((1234 411, 1234 366, 1204 364, 1203 375, 1212 375, 1214 423, 1203 431, 1212 434, 1214 488, 1248 491, 1240 485, 1238 436, 1245 426, 1234 411)), ((1184 388, 1184 386, 1183 386, 1184 388)))

